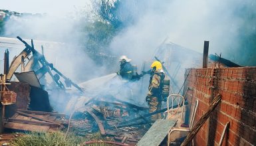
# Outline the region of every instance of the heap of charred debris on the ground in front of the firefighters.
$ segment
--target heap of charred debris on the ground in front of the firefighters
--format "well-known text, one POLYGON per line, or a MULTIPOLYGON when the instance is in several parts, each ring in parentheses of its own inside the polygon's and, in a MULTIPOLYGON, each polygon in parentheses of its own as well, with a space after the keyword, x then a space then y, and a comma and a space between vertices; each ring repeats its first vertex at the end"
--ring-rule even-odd
POLYGON ((100 131, 102 136, 113 137, 115 141, 135 144, 151 126, 150 119, 143 116, 146 113, 148 108, 113 97, 93 98, 70 115, 70 130, 81 136, 100 131))

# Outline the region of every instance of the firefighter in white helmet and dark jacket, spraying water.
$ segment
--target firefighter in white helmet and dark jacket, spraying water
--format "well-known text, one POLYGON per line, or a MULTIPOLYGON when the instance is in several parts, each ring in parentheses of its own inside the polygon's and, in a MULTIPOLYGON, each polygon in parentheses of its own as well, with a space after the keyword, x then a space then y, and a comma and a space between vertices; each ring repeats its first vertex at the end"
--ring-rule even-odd
POLYGON ((122 76, 123 79, 131 80, 132 79, 132 64, 130 64, 130 59, 127 56, 121 56, 120 59, 120 70, 117 73, 122 76))

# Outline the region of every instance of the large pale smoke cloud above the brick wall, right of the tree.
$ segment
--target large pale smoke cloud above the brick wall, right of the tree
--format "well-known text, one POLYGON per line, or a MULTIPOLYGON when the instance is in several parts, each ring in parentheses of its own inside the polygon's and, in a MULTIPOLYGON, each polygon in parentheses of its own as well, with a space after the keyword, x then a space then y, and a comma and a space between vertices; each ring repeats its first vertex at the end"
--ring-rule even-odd
MULTIPOLYGON (((169 41, 197 52, 203 52, 203 41, 209 40, 209 53, 222 53, 224 58, 246 64, 245 60, 234 56, 243 49, 240 48, 241 36, 255 34, 255 1, 134 0, 122 3, 126 5, 122 7, 131 3, 136 4, 128 11, 133 24, 112 41, 111 47, 116 54, 128 54, 141 63, 141 60, 152 57, 154 50, 168 36, 169 41)), ((127 14, 121 9, 120 15, 127 14)), ((254 48, 251 46, 250 49, 254 48)))

